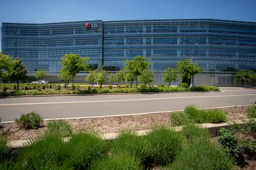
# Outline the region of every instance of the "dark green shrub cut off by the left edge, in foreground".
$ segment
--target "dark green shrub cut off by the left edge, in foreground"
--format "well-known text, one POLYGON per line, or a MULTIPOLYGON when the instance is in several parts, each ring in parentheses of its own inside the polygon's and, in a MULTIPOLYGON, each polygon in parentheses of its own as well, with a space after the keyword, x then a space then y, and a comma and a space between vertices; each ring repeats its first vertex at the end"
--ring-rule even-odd
POLYGON ((9 157, 10 149, 8 138, 0 134, 0 162, 9 157))

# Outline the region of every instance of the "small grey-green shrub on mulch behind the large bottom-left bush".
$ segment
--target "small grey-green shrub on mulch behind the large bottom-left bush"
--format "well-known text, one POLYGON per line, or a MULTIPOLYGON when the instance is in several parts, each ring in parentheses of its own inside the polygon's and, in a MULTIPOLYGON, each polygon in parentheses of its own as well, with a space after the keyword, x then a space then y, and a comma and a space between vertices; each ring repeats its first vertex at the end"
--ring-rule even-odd
POLYGON ((62 137, 71 136, 73 130, 66 121, 52 121, 47 124, 49 133, 58 133, 62 137))

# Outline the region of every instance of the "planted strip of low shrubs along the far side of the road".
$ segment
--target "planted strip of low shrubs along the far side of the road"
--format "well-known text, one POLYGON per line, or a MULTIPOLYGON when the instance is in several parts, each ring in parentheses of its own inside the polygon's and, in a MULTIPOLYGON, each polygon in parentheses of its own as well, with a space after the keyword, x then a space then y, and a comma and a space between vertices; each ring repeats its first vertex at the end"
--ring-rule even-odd
MULTIPOLYGON (((13 85, 15 86, 15 85, 13 85)), ((0 96, 21 96, 21 95, 67 95, 67 94, 102 94, 102 93, 148 93, 148 92, 189 92, 189 91, 219 91, 218 87, 214 86, 192 86, 192 87, 154 87, 141 85, 138 88, 130 88, 128 85, 120 88, 112 88, 112 85, 105 87, 91 87, 75 85, 74 91, 69 88, 64 88, 57 85, 35 85, 35 84, 21 84, 20 90, 11 85, 0 85, 2 89, 0 96)))

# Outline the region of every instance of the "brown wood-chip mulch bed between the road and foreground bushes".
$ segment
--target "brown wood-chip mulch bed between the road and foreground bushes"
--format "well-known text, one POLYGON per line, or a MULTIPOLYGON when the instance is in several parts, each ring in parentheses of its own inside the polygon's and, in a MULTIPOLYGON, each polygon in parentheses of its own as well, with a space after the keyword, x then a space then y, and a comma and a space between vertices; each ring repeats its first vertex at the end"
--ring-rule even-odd
MULTIPOLYGON (((247 118, 247 109, 249 106, 240 107, 228 107, 221 108, 224 112, 227 112, 227 120, 232 121, 237 119, 247 118)), ((133 128, 135 130, 145 130, 152 126, 160 124, 170 125, 171 124, 171 113, 155 113, 155 114, 144 114, 144 115, 133 115, 133 116, 116 116, 116 117, 102 117, 92 119, 73 119, 66 120, 73 131, 78 129, 94 129, 99 133, 115 133, 121 129, 133 128)), ((28 138, 35 138, 40 133, 43 133, 47 128, 47 123, 51 121, 43 121, 42 126, 38 129, 22 129, 15 123, 4 124, 3 130, 12 140, 22 140, 28 138)))

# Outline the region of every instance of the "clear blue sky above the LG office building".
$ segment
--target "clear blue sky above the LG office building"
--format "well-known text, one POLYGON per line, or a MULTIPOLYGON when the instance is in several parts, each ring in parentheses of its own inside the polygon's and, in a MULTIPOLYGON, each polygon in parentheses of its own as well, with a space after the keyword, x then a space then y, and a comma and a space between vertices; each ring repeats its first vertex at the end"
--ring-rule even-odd
POLYGON ((256 0, 0 0, 1 26, 2 22, 138 19, 256 22, 256 0))

